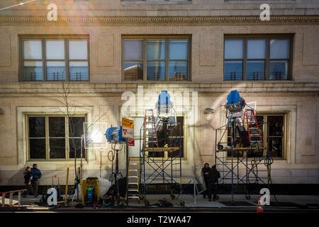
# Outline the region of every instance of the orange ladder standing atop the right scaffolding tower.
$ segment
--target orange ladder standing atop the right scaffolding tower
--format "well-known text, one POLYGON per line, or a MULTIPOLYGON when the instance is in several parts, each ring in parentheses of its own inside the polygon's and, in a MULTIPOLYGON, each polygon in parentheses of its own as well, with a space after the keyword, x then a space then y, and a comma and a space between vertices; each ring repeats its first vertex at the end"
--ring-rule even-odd
POLYGON ((248 138, 250 140, 250 146, 257 148, 264 148, 262 143, 262 135, 258 126, 256 114, 254 109, 246 109, 242 123, 246 123, 248 138))

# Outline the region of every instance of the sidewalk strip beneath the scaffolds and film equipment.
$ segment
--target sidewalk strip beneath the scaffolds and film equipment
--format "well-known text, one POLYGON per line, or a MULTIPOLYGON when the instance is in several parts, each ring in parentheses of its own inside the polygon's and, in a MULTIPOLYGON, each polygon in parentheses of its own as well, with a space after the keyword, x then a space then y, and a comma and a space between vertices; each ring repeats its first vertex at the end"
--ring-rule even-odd
MULTIPOLYGON (((219 195, 220 198, 216 201, 208 201, 208 199, 203 199, 202 195, 196 196, 196 204, 194 204, 194 195, 191 194, 183 194, 179 196, 178 199, 171 199, 169 194, 150 194, 146 195, 147 201, 149 203, 155 204, 159 199, 166 199, 173 204, 172 207, 159 207, 159 206, 145 206, 144 201, 138 201, 136 199, 130 199, 128 206, 124 207, 117 207, 114 206, 113 208, 105 208, 105 209, 94 209, 93 207, 85 207, 85 211, 97 211, 97 210, 119 210, 123 209, 123 211, 128 211, 132 209, 138 209, 139 211, 150 211, 152 209, 165 209, 165 211, 176 211, 176 209, 182 209, 184 211, 203 211, 212 209, 213 211, 218 211, 218 209, 227 209, 231 211, 231 209, 252 209, 255 210, 257 207, 257 201, 260 195, 251 195, 250 199, 246 199, 245 195, 234 195, 235 204, 231 203, 232 196, 230 194, 221 194, 219 195), (181 206, 180 202, 184 201, 184 206, 181 206)), ((28 211, 32 210, 43 210, 43 211, 50 211, 52 208, 47 206, 38 206, 38 202, 40 201, 40 195, 35 198, 34 196, 27 196, 21 198, 21 204, 28 209, 28 211)), ((18 196, 13 196, 13 204, 18 203, 18 196)), ((310 209, 315 212, 319 212, 319 196, 308 196, 308 195, 277 195, 277 201, 279 204, 276 204, 274 196, 271 196, 271 206, 264 206, 264 209, 310 209), (308 206, 306 206, 308 204, 308 206)), ((123 199, 124 201, 124 199, 123 199)), ((1 202, 1 201, 0 201, 1 202)), ((7 199, 6 199, 7 203, 7 199)), ((67 208, 60 208, 58 211, 68 211, 70 209, 74 209, 74 207, 67 207, 67 208)), ((57 209, 55 209, 57 210, 57 209)), ((80 211, 81 209, 77 209, 80 211)))

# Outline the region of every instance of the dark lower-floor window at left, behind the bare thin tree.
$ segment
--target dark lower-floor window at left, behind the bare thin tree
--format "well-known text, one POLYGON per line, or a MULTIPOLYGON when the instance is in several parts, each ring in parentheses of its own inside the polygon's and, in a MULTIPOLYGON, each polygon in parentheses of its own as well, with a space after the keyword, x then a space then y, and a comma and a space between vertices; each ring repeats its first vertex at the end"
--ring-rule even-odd
MULTIPOLYGON (((68 160, 81 157, 84 116, 28 116, 30 160, 68 160)), ((82 157, 85 157, 84 147, 82 157)))

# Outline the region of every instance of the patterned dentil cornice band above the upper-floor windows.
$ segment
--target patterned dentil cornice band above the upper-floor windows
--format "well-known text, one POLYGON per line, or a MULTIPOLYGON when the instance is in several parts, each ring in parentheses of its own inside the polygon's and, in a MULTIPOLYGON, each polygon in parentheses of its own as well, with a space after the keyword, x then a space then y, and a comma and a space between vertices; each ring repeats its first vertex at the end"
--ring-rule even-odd
POLYGON ((260 21, 258 16, 113 16, 113 17, 60 17, 49 22, 45 17, 0 17, 0 23, 319 23, 319 16, 272 16, 260 21))

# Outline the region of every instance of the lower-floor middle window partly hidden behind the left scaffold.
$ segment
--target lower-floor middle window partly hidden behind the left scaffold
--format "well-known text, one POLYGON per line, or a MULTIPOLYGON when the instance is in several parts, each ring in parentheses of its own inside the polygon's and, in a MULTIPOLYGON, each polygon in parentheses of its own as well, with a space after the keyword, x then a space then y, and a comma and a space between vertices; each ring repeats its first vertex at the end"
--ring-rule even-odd
MULTIPOLYGON (((128 147, 128 152, 130 154, 130 157, 140 157, 140 149, 142 149, 143 145, 143 136, 140 135, 143 133, 143 130, 141 130, 141 127, 144 123, 144 117, 133 117, 134 121, 134 139, 135 139, 135 146, 128 147)), ((184 157, 184 117, 183 116, 177 116, 177 126, 168 126, 169 129, 169 141, 172 143, 172 147, 179 147, 181 145, 181 157, 184 157), (179 140, 180 138, 180 140, 179 140)), ((164 141, 161 140, 163 135, 162 130, 157 130, 157 139, 159 143, 159 147, 164 147, 164 141)), ((179 154, 179 151, 175 152, 148 152, 148 155, 150 157, 175 157, 179 154)))

